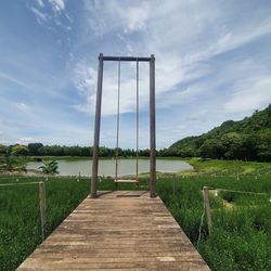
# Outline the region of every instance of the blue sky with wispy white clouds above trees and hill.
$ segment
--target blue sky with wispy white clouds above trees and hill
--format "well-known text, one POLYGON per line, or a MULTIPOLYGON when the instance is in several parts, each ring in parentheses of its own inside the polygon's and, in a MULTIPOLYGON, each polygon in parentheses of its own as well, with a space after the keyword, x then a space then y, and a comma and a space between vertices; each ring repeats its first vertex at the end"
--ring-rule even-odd
MULTIPOLYGON (((99 53, 155 55, 157 149, 271 102, 269 0, 2 0, 0 143, 92 145, 99 53)), ((116 145, 117 65, 104 64, 101 145, 116 145)), ((149 147, 140 63, 140 147, 149 147)), ((120 147, 136 147, 136 64, 121 63, 120 147)))

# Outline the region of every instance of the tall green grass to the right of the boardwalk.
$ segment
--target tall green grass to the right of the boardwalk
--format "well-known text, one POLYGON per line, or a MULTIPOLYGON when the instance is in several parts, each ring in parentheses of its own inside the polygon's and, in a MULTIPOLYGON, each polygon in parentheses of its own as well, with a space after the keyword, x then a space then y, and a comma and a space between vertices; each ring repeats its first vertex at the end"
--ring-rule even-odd
POLYGON ((209 193, 212 232, 206 220, 202 229, 199 253, 211 270, 271 270, 271 180, 270 175, 255 177, 197 177, 159 180, 158 194, 178 223, 196 245, 203 214, 202 188, 251 191, 267 195, 220 192, 209 193), (223 201, 230 202, 225 207, 223 201))

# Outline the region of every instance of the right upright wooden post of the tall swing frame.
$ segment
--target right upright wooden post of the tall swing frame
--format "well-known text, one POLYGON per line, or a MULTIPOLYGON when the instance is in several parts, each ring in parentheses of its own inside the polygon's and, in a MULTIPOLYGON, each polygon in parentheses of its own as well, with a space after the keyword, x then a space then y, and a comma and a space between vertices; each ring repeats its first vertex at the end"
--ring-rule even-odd
POLYGON ((150 61, 150 196, 156 196, 156 139, 155 139, 155 59, 150 61))

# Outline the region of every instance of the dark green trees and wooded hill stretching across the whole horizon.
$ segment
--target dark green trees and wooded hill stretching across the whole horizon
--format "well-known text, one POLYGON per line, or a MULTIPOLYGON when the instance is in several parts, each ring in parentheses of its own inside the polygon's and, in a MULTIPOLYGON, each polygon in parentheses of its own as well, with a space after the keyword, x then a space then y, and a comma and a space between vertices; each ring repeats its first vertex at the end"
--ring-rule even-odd
MULTIPOLYGON (((90 157, 90 146, 61 146, 29 143, 28 145, 1 145, 0 156, 25 157, 66 156, 90 157)), ((101 146, 101 157, 114 157, 116 150, 101 146)), ((121 157, 136 157, 133 149, 118 149, 121 157)), ((150 156, 150 150, 140 150, 139 156, 150 156)), ((240 121, 228 120, 198 137, 184 138, 168 149, 157 151, 157 157, 202 157, 212 159, 240 159, 271 162, 271 105, 257 111, 240 121)))

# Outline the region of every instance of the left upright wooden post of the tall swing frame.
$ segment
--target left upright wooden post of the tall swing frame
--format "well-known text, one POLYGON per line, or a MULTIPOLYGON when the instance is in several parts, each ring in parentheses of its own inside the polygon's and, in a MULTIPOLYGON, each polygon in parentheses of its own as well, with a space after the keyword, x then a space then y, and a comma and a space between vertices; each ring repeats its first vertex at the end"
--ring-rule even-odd
POLYGON ((103 88, 103 54, 100 53, 98 86, 96 86, 96 107, 95 107, 94 141, 93 141, 93 157, 92 157, 91 194, 90 194, 92 198, 96 197, 102 88, 103 88))

